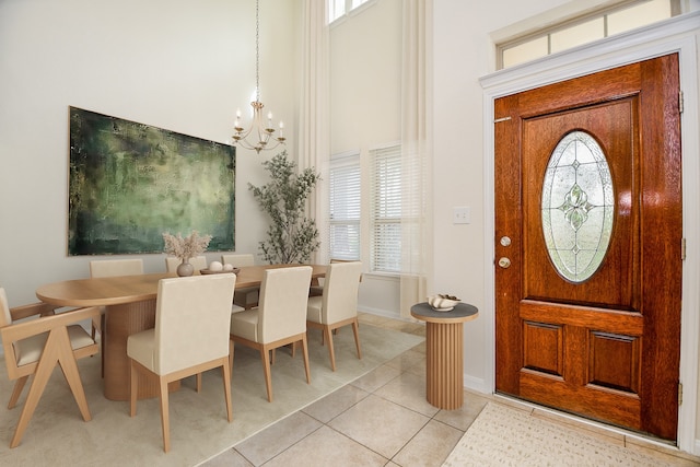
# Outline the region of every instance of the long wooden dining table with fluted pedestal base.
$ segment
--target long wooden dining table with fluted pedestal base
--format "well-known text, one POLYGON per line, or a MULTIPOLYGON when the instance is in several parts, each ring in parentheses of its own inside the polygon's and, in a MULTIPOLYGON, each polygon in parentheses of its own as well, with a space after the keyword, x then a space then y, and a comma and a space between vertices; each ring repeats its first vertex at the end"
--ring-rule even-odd
MULTIPOLYGON (((259 287, 265 270, 300 265, 261 265, 240 268, 236 288, 259 287)), ((326 275, 326 266, 311 265, 312 278, 326 275)), ((129 400, 129 359, 127 340, 130 335, 155 326, 155 302, 161 279, 175 273, 118 276, 52 282, 36 289, 36 296, 58 306, 104 306, 104 394, 110 400, 129 400)), ((172 385, 174 390, 178 385, 172 385)), ((139 377, 139 398, 156 397, 158 378, 139 377)))

